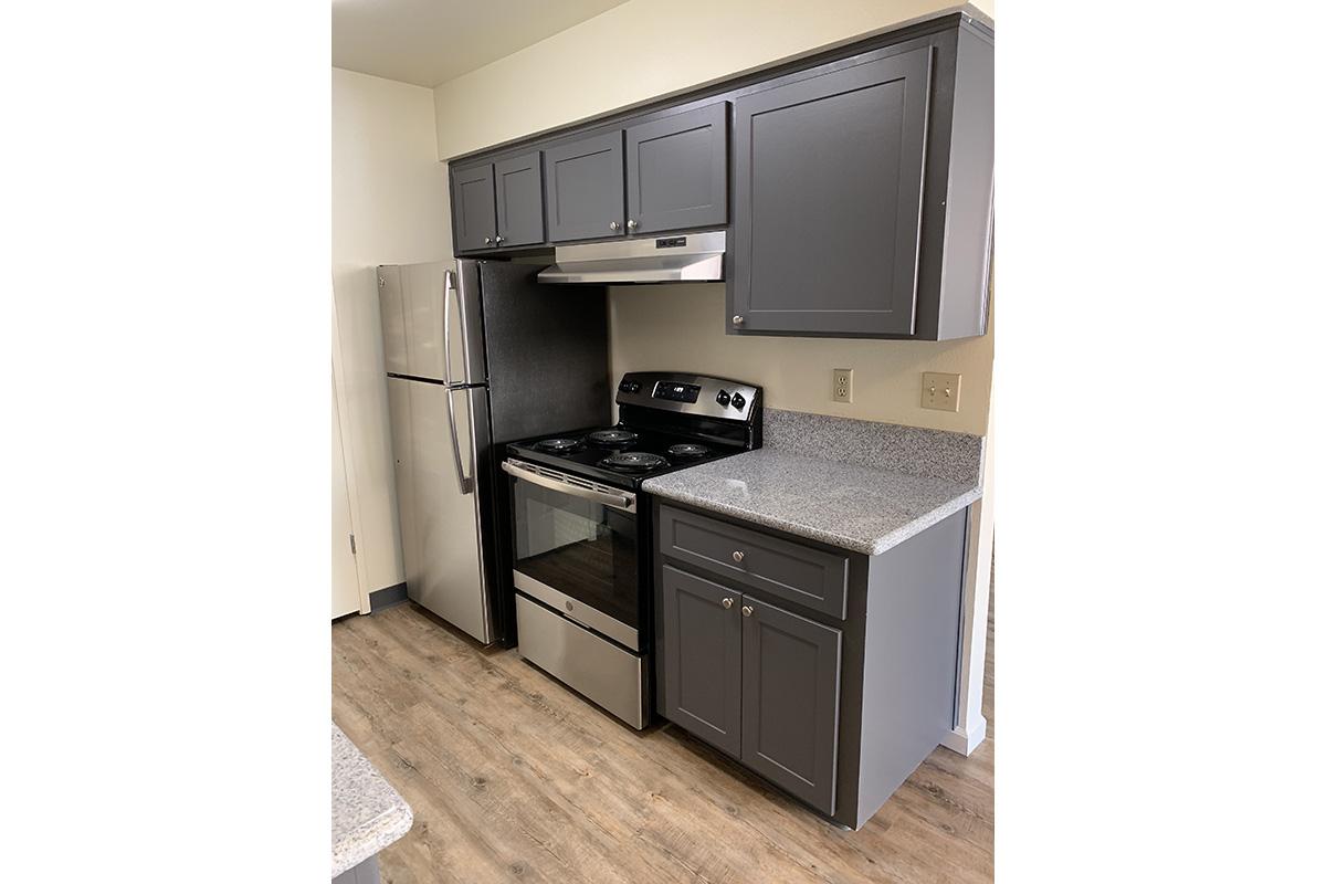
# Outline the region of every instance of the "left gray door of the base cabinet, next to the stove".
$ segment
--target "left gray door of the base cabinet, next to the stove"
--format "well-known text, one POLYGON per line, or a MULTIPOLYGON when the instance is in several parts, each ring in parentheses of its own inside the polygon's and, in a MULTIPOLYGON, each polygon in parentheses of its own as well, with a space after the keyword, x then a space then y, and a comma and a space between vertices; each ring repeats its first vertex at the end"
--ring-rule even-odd
POLYGON ((741 757, 741 594, 670 565, 662 592, 663 714, 741 757))

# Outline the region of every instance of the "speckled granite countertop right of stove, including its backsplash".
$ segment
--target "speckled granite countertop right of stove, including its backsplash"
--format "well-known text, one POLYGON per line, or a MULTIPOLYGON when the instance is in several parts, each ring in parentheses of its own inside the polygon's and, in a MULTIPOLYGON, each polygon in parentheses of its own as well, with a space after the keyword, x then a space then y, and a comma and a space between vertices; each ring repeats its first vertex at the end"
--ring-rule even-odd
POLYGON ((646 480, 644 490, 875 555, 981 496, 985 440, 764 410, 764 448, 646 480))

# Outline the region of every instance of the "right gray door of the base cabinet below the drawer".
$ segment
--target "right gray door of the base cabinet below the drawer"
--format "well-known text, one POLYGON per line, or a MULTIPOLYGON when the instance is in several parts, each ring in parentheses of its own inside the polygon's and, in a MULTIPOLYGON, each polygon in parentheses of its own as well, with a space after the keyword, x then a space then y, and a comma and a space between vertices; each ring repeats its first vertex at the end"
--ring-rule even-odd
POLYGON ((743 604, 741 761, 833 814, 842 632, 749 595, 743 604))

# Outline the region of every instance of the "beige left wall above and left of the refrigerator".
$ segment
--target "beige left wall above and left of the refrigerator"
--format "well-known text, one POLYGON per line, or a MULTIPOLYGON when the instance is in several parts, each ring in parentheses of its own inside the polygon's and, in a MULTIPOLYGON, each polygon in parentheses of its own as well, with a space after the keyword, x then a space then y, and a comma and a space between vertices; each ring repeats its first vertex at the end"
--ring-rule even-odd
POLYGON ((431 90, 332 69, 337 380, 370 592, 404 579, 374 268, 451 257, 447 175, 435 133, 431 90))

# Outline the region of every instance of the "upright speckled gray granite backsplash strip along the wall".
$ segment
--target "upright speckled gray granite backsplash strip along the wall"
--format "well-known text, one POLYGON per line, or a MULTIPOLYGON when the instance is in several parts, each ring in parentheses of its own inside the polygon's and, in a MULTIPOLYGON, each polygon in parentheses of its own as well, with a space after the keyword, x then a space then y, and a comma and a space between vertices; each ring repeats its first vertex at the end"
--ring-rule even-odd
POLYGON ((985 440, 943 429, 765 408, 764 447, 979 485, 985 440))

